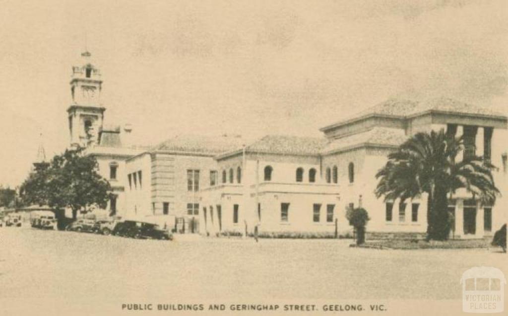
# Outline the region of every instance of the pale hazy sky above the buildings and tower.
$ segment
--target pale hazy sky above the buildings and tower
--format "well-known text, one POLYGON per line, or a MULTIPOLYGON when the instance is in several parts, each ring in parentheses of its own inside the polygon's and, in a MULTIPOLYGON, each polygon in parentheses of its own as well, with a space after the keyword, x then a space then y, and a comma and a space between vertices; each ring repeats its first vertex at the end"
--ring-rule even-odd
POLYGON ((508 112, 508 2, 0 0, 0 185, 69 144, 71 67, 102 73, 105 124, 321 136, 389 98, 508 112), (42 134, 42 136, 41 136, 42 134))

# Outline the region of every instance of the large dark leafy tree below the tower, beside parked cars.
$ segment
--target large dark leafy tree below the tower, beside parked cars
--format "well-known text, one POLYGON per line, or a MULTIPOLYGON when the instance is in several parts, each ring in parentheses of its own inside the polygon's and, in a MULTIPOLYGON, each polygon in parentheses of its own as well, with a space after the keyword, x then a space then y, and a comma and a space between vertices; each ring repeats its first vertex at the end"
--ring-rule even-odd
POLYGON ((71 208, 73 218, 92 205, 105 208, 111 186, 97 172, 97 160, 82 155, 82 151, 66 150, 53 157, 47 169, 30 174, 21 186, 23 200, 57 210, 71 208))

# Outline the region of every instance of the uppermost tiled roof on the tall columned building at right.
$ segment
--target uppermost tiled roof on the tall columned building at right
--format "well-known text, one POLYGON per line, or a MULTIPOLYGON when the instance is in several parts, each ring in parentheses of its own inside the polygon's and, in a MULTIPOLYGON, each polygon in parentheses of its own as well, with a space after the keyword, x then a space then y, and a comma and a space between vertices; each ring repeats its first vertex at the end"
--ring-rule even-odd
POLYGON ((327 129, 329 127, 338 126, 350 121, 356 121, 357 119, 368 117, 371 115, 406 118, 414 116, 418 113, 424 113, 431 110, 454 112, 459 114, 504 117, 504 114, 496 112, 490 109, 489 107, 476 106, 450 98, 435 98, 425 101, 389 99, 385 102, 376 104, 363 111, 355 113, 353 116, 347 117, 344 120, 341 120, 335 124, 324 127, 321 130, 327 129))

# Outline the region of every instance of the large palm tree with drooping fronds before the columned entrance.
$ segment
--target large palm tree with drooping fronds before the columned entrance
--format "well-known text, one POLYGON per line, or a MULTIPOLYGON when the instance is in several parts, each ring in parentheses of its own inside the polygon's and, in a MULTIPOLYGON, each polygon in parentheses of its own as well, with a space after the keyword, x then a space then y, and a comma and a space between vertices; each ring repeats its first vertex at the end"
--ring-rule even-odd
POLYGON ((415 198, 427 193, 427 238, 446 240, 450 233, 448 198, 465 188, 482 203, 494 203, 499 190, 494 185, 495 168, 482 157, 464 157, 462 137, 440 130, 420 132, 406 140, 378 171, 375 194, 387 199, 415 198))

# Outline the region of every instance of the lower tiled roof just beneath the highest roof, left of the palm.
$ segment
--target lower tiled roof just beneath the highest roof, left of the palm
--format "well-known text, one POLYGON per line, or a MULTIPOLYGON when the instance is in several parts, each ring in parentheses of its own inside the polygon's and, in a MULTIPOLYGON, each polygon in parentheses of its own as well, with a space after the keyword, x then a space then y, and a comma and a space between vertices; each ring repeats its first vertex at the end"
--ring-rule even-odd
POLYGON ((327 154, 342 149, 352 148, 362 144, 399 146, 407 139, 403 129, 374 127, 371 130, 334 139, 323 148, 322 153, 327 154))

